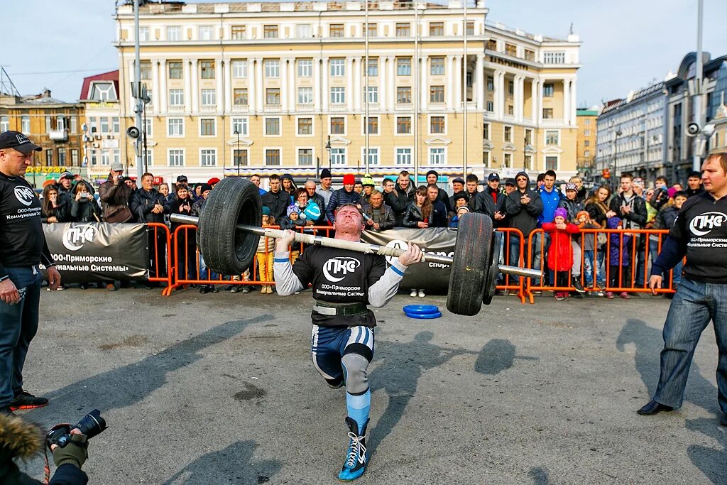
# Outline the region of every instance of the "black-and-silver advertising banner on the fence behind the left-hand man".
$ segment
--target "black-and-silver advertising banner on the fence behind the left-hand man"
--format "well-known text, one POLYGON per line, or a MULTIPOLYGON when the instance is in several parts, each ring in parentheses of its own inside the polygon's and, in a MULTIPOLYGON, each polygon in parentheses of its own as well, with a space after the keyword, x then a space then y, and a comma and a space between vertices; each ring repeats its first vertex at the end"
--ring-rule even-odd
POLYGON ((148 277, 143 224, 57 223, 43 231, 63 283, 148 277))

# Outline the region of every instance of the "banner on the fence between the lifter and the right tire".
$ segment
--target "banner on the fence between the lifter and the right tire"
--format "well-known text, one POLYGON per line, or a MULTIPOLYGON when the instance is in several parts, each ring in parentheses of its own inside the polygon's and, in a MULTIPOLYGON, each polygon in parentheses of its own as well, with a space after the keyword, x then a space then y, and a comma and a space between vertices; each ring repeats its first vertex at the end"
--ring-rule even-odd
MULTIPOLYGON (((381 246, 398 247, 406 249, 407 242, 417 244, 422 251, 439 254, 441 256, 454 256, 454 243, 457 240, 457 231, 446 228, 427 229, 390 229, 389 231, 364 231, 361 241, 379 244, 381 246)), ((394 258, 387 257, 389 262, 394 258)), ((449 265, 438 262, 422 262, 411 265, 406 270, 404 278, 399 284, 402 290, 412 288, 424 289, 435 294, 446 294, 449 287, 449 265)))

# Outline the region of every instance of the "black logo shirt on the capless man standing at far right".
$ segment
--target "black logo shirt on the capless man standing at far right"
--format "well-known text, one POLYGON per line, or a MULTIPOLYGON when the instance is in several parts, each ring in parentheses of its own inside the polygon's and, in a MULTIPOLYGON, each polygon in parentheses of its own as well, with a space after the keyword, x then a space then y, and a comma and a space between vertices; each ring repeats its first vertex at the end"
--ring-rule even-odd
POLYGON ((707 192, 684 202, 669 237, 686 249, 684 276, 727 284, 727 198, 707 192))

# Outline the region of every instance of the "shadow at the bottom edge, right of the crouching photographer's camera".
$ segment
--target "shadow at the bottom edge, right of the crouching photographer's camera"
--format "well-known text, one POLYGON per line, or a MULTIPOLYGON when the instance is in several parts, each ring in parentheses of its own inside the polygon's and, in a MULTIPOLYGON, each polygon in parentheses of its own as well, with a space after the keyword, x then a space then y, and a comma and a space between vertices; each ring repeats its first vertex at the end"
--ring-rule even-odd
POLYGON ((253 458, 257 443, 238 441, 218 452, 198 457, 169 477, 164 485, 267 484, 281 469, 278 460, 257 462, 253 458))

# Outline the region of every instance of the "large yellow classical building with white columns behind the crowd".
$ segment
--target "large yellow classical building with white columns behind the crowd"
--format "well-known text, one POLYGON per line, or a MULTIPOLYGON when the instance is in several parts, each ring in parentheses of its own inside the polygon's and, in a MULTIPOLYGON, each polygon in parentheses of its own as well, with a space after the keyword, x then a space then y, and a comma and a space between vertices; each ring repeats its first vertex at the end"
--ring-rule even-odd
MULTIPOLYGON (((151 98, 150 170, 192 181, 316 177, 323 167, 363 174, 368 139, 377 177, 414 167, 462 175, 465 162, 481 177, 523 168, 574 175, 578 37, 486 23, 483 0, 467 9, 466 25, 459 0, 416 7, 146 4, 140 79, 151 98)), ((132 6, 118 7, 116 20, 123 133, 134 123, 132 6)), ((128 140, 120 156, 134 164, 128 140)))

